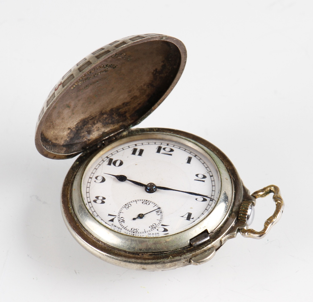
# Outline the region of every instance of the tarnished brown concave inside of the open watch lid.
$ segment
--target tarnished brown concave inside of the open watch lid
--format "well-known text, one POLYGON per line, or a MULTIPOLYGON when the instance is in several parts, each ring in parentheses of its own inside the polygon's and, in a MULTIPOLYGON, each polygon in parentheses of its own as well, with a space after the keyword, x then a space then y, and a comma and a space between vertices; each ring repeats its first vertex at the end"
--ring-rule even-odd
POLYGON ((93 65, 58 96, 41 129, 45 149, 82 152, 136 125, 163 101, 180 67, 177 46, 156 40, 122 51, 93 65))

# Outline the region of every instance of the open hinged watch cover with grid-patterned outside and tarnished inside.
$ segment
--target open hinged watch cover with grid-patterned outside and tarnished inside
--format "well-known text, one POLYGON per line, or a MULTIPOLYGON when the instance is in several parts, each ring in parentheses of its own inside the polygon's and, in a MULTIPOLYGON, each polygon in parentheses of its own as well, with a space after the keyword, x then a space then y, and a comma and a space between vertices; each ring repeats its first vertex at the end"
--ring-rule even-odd
POLYGON ((105 45, 71 68, 40 111, 38 152, 66 159, 140 123, 172 91, 184 70, 184 44, 161 34, 105 45))

